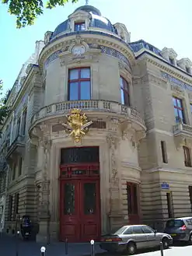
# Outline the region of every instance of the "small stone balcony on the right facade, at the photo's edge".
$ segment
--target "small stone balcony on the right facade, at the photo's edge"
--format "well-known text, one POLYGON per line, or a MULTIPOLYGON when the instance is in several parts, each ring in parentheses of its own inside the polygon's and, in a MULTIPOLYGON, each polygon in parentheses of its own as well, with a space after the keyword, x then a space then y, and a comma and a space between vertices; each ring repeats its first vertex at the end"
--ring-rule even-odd
POLYGON ((192 126, 189 124, 178 123, 173 125, 173 135, 176 141, 176 147, 186 145, 188 141, 192 142, 192 126))

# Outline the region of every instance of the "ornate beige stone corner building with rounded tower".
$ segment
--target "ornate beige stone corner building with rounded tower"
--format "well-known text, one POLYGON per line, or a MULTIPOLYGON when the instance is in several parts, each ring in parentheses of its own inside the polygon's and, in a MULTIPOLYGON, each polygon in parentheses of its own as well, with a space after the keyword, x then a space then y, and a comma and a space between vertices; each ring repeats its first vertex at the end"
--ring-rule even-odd
POLYGON ((191 215, 188 58, 84 5, 26 64, 2 127, 6 229, 29 214, 39 240, 86 241, 191 215))

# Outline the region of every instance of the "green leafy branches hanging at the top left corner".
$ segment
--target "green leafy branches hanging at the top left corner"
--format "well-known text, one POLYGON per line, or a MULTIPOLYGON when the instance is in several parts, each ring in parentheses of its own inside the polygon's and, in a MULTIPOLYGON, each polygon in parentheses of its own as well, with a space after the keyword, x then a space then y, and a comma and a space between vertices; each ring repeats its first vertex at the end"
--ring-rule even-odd
POLYGON ((79 0, 49 0, 44 5, 44 0, 2 0, 9 5, 9 13, 16 16, 17 28, 33 25, 35 19, 44 13, 44 8, 53 9, 57 5, 65 5, 67 2, 79 0))

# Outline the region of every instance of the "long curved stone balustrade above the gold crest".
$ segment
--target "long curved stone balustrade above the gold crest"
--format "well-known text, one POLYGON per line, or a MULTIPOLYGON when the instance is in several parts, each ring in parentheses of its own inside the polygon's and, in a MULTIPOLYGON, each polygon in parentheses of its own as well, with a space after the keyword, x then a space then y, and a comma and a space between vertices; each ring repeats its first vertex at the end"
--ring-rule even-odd
POLYGON ((37 114, 32 117, 31 123, 34 124, 41 118, 50 117, 55 114, 68 114, 68 112, 73 108, 79 108, 86 111, 102 111, 114 114, 124 114, 127 117, 134 118, 134 120, 145 125, 140 114, 134 108, 106 100, 72 100, 53 103, 37 112, 37 114))

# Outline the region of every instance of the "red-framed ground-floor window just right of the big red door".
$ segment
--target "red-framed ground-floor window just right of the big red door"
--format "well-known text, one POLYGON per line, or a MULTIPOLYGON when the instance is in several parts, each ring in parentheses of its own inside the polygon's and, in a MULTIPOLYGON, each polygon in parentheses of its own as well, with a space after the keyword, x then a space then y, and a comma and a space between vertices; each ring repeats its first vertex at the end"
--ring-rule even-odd
POLYGON ((138 214, 138 185, 127 182, 127 210, 129 215, 138 214))

